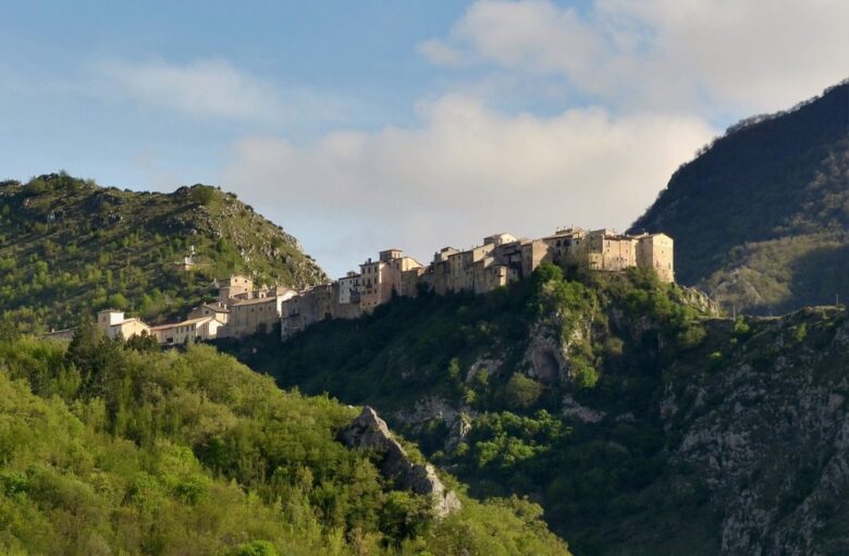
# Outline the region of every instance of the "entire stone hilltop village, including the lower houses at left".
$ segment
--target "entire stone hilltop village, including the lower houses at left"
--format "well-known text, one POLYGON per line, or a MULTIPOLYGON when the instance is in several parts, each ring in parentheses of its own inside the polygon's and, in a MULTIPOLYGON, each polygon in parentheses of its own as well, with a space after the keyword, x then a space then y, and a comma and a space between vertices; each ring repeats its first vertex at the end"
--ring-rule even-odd
MULTIPOLYGON (((370 313, 393 296, 420 292, 485 294, 524 280, 542 262, 586 264, 590 270, 617 272, 631 267, 653 269, 674 282, 674 244, 665 234, 623 235, 612 230, 559 228, 539 239, 495 234, 466 250, 444 247, 429 264, 401 249, 380 251, 359 272, 296 292, 283 286, 255 287, 250 277, 232 275, 219 286, 218 298, 193 309, 184 321, 150 326, 124 312, 103 310, 98 326, 110 337, 148 334, 163 345, 271 332, 280 323, 285 339, 324 319, 355 319, 370 313)), ((48 337, 70 338, 73 331, 48 337)))

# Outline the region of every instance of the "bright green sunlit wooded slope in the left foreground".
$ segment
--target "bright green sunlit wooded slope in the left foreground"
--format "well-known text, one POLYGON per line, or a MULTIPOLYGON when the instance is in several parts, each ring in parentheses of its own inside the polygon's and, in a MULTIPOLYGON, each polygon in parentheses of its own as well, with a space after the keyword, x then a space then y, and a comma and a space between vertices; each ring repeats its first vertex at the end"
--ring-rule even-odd
MULTIPOLYGON (((206 346, 0 339, 3 554, 567 554, 539 506, 443 520, 336 442, 356 409, 206 346)), ((450 478, 446 478, 450 479, 450 478)))

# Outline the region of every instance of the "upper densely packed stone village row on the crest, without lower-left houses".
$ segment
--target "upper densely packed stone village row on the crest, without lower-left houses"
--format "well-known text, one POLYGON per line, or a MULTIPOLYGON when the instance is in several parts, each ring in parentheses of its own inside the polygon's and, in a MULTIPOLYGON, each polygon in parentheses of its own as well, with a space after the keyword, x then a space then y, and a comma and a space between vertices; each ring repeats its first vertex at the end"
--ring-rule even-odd
POLYGON ((285 339, 310 324, 332 318, 369 313, 393 295, 419 292, 485 294, 524 280, 542 262, 587 264, 590 270, 617 272, 630 267, 654 269, 674 282, 674 243, 666 234, 623 235, 612 230, 558 228, 539 239, 494 234, 466 250, 444 247, 424 265, 401 249, 380 251, 378 260, 359 265, 359 273, 299 292, 282 304, 281 336, 285 339))

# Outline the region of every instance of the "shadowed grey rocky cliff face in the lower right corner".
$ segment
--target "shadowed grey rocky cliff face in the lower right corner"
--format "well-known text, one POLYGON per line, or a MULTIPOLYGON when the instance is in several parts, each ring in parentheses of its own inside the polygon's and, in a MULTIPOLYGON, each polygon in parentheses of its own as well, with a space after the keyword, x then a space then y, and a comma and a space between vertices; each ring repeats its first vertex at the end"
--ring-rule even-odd
POLYGON ((668 481, 706 489, 724 554, 849 551, 847 347, 845 312, 805 310, 756 324, 714 368, 674 366, 668 481))

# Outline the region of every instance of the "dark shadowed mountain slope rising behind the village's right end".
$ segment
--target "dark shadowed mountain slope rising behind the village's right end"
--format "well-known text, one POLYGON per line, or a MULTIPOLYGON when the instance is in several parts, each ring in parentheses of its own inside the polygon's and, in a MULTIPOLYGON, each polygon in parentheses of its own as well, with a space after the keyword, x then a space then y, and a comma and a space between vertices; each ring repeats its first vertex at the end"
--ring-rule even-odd
POLYGON ((849 294, 849 83, 737 124, 630 232, 675 238, 676 276, 754 312, 849 294))

